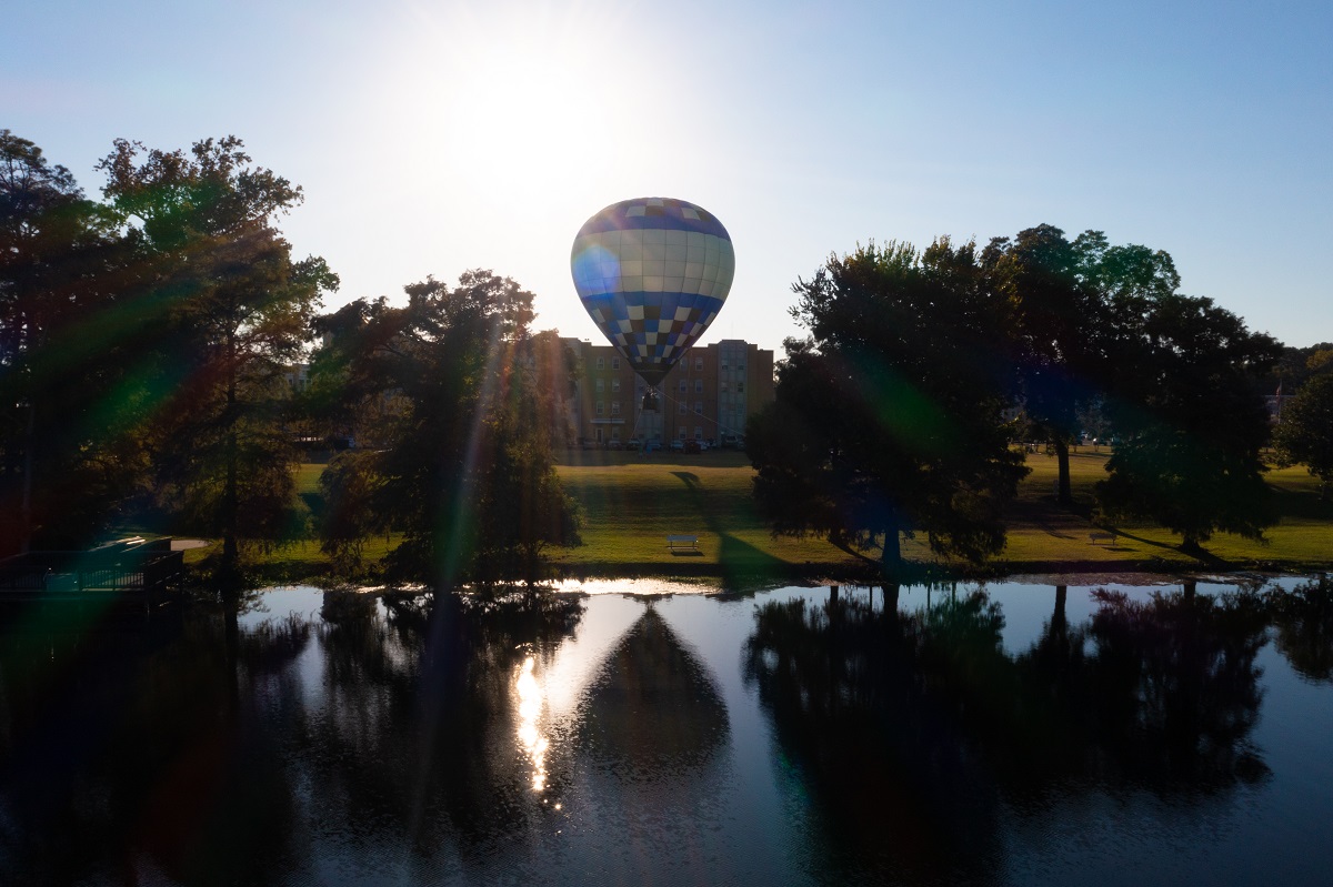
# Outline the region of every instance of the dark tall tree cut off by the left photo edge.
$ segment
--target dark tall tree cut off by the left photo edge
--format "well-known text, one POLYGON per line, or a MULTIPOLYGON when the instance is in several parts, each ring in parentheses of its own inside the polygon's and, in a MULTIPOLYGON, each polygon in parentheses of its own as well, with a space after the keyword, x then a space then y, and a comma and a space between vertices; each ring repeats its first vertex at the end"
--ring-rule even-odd
POLYGON ((133 487, 125 258, 115 213, 0 129, 0 554, 81 545, 133 487))

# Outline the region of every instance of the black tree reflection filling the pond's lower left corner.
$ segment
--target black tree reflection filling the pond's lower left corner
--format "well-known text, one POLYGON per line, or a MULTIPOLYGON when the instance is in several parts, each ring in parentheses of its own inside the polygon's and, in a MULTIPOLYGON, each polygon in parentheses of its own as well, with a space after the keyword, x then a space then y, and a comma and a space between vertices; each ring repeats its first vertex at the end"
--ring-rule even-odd
MULTIPOLYGON (((12 615, 12 614, 8 614, 12 615)), ((57 607, 53 615, 68 618, 57 607)), ((63 619, 57 619, 63 621, 63 619)), ((0 871, 7 883, 256 883, 283 864, 292 786, 252 694, 307 627, 225 642, 224 619, 143 618, 0 641, 0 871)))

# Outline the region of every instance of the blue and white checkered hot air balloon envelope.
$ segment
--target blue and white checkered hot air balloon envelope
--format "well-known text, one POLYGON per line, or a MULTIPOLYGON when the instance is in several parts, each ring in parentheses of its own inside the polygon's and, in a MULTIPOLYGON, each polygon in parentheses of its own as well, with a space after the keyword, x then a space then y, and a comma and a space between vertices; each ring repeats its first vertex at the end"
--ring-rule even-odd
POLYGON ((656 386, 717 317, 732 288, 736 253, 708 210, 684 200, 639 197, 584 222, 569 265, 593 321, 656 386))

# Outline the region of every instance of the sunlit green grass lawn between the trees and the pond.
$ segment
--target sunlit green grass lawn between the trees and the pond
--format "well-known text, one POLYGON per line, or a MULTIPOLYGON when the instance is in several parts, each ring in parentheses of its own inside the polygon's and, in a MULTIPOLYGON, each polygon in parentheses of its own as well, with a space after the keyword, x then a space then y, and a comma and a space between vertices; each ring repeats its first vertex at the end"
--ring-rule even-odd
MULTIPOLYGON (((1074 509, 1054 501, 1056 459, 1032 454, 1032 473, 1021 483, 1009 514, 1009 542, 986 569, 997 573, 1081 570, 1120 573, 1144 569, 1328 569, 1333 563, 1333 503, 1321 502, 1304 467, 1272 471, 1281 521, 1266 543, 1218 534, 1197 558, 1180 550, 1180 539, 1153 526, 1117 526, 1116 538, 1092 522, 1093 485, 1105 475, 1106 453, 1082 447, 1070 455, 1074 509)), ((321 463, 305 463, 297 491, 312 511, 321 506, 321 463)), ((817 538, 773 538, 750 498, 753 470, 745 455, 709 451, 608 453, 571 450, 557 465, 565 489, 583 506, 584 545, 549 549, 559 569, 572 575, 722 575, 764 577, 805 573, 850 574, 858 561, 817 538), (670 551, 666 535, 698 537, 694 551, 670 551)), ((368 562, 383 557, 396 538, 367 543, 368 562)), ((192 558, 207 551, 192 554, 192 558)), ((924 539, 904 542, 904 555, 934 565, 924 539)), ((317 542, 305 542, 259 557, 260 571, 275 581, 320 575, 327 563, 317 542)), ((961 569, 960 563, 938 566, 961 569)))

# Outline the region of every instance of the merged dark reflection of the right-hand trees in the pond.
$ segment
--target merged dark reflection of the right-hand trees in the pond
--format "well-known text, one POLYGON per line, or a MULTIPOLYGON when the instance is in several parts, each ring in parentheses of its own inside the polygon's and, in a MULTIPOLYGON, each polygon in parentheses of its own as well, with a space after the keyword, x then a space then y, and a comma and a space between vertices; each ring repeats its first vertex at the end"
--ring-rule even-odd
POLYGON ((1177 799, 1266 774, 1249 734, 1261 597, 1100 591, 1070 626, 1064 589, 1017 657, 985 591, 898 613, 834 597, 756 614, 746 677, 820 802, 837 879, 985 880, 1001 799, 1146 788, 1177 799), (854 860, 854 862, 853 862, 854 860))

